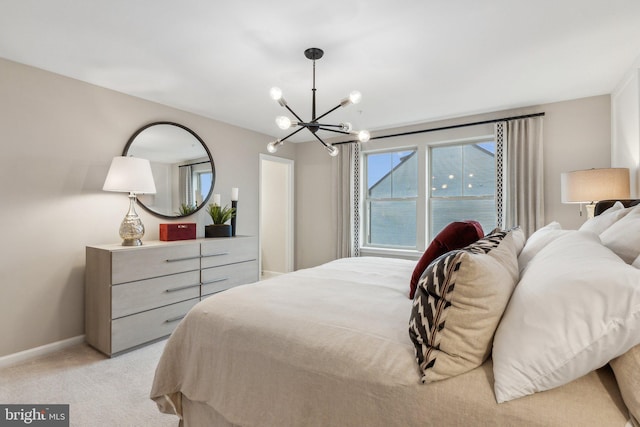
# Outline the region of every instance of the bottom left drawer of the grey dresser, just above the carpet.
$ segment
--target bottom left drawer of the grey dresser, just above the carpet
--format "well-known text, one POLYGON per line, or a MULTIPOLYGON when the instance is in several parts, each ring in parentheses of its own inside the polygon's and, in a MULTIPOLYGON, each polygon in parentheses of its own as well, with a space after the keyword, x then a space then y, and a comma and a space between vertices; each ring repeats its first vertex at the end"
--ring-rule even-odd
POLYGON ((196 298, 114 320, 111 354, 170 335, 198 301, 196 298))

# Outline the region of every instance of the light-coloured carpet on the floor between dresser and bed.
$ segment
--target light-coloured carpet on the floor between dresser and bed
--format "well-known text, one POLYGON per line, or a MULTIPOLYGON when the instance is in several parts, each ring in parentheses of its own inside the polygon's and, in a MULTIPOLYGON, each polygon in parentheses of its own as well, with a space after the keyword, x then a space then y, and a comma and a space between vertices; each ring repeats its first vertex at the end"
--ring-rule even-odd
POLYGON ((86 344, 0 369, 3 404, 69 404, 71 426, 178 425, 149 399, 166 341, 112 359, 86 344))

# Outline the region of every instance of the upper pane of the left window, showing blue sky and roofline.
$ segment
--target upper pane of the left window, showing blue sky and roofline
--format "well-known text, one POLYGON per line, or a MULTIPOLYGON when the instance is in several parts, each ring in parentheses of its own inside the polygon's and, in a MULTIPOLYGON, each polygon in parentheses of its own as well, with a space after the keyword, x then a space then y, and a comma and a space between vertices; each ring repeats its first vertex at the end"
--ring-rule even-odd
POLYGON ((415 151, 367 155, 367 189, 370 198, 388 199, 418 195, 418 160, 415 151))

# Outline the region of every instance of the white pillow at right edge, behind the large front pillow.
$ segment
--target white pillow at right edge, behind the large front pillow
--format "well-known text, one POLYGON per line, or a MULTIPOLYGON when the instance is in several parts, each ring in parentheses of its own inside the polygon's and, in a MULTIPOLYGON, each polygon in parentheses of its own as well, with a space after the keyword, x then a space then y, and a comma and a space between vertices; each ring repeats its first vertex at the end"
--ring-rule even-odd
POLYGON ((627 264, 640 255, 640 206, 600 234, 602 244, 614 251, 627 264))

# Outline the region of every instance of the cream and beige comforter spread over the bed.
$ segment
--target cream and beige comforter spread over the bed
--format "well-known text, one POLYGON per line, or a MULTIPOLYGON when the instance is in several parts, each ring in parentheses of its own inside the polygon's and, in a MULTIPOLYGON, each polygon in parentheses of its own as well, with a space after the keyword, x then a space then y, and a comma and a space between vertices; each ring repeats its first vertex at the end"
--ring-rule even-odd
POLYGON ((490 362, 421 384, 414 266, 341 259, 217 294, 167 342, 151 397, 180 414, 184 395, 242 426, 625 424, 610 372, 501 405, 490 362))

